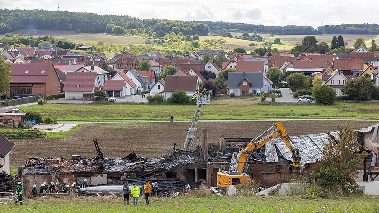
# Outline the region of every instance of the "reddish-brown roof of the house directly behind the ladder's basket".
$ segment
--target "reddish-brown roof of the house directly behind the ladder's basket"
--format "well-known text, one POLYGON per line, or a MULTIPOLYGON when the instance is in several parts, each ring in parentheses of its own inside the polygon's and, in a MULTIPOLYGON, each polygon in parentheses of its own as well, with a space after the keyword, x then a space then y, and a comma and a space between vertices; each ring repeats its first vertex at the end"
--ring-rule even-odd
POLYGON ((195 92, 197 89, 197 77, 167 75, 164 84, 165 92, 172 92, 175 90, 195 92))

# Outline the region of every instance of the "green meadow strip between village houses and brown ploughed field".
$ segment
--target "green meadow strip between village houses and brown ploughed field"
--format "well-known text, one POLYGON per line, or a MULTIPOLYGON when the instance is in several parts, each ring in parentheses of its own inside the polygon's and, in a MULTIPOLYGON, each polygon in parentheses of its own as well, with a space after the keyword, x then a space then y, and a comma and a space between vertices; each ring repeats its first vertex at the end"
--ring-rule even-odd
MULTIPOLYGON (((58 121, 146 121, 191 120, 196 106, 193 104, 132 104, 106 103, 88 105, 45 104, 21 107, 21 111, 38 112, 58 121)), ((276 105, 217 105, 204 106, 202 120, 236 119, 379 119, 378 103, 337 103, 332 106, 317 104, 276 105)))

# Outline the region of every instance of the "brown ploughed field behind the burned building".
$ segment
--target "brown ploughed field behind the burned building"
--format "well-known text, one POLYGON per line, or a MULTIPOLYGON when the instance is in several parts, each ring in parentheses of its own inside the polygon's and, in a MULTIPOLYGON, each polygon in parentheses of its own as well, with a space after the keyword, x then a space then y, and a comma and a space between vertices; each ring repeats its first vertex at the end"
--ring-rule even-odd
MULTIPOLYGON (((375 121, 283 121, 290 135, 336 131, 349 124, 354 129, 375 124, 375 121)), ((274 122, 200 122, 198 133, 208 128, 208 140, 218 142, 220 136, 254 137, 274 122)), ((105 157, 123 157, 134 151, 138 156, 159 157, 172 152, 173 144, 183 146, 185 123, 87 124, 62 139, 13 140, 12 166, 24 165, 29 157, 67 157, 72 154, 86 158, 96 156, 92 139, 97 138, 105 157)))

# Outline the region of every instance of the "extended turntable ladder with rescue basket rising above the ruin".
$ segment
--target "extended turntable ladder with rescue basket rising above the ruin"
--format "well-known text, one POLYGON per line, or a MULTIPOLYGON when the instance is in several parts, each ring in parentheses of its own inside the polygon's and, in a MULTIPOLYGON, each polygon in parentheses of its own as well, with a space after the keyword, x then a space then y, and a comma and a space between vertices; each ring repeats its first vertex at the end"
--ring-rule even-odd
MULTIPOLYGON (((212 91, 210 91, 212 92, 212 91)), ((193 141, 196 137, 197 132, 197 123, 199 121, 201 109, 203 108, 204 104, 210 104, 211 103, 211 95, 209 94, 198 94, 196 97, 197 107, 195 114, 193 115, 192 124, 191 127, 187 130, 187 136, 186 140, 184 141, 183 150, 189 151, 192 147, 193 141)))

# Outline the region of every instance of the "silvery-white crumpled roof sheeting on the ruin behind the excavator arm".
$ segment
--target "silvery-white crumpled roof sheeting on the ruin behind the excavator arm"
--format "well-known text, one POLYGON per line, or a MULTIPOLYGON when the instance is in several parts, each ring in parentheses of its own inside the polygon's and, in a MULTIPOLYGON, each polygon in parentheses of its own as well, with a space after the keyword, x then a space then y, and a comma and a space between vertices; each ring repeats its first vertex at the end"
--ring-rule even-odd
MULTIPOLYGON (((339 140, 338 133, 330 133, 336 140, 339 140)), ((291 136, 294 146, 299 149, 301 162, 316 162, 321 159, 322 150, 329 143, 330 136, 328 133, 310 134, 301 136, 291 136)), ((280 138, 274 138, 265 144, 265 155, 267 162, 278 162, 279 157, 274 144, 278 147, 283 157, 289 161, 292 160, 292 152, 280 138)))

